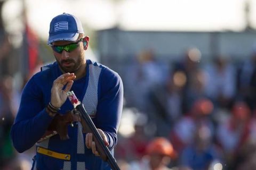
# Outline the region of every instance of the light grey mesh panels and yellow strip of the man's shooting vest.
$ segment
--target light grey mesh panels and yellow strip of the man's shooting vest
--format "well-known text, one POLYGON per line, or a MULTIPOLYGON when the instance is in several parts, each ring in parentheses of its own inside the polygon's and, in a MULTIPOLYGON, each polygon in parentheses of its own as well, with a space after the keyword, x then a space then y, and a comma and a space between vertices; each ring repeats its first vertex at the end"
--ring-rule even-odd
MULTIPOLYGON (((53 64, 49 64, 46 66, 41 67, 41 71, 50 69, 53 64)), ((83 97, 82 103, 84 104, 84 108, 86 112, 91 116, 94 117, 97 111, 98 105, 98 83, 99 77, 102 70, 102 67, 99 65, 95 65, 94 63, 87 64, 89 66, 89 81, 88 86, 83 97)), ((64 159, 63 169, 62 170, 69 170, 71 169, 71 162, 69 154, 61 154, 54 151, 48 150, 49 141, 51 138, 47 138, 40 143, 36 143, 37 152, 40 154, 48 155, 58 159, 64 159)), ((82 124, 78 122, 77 125, 77 154, 85 154, 85 139, 82 132, 82 124)), ((36 169, 36 162, 34 161, 34 168, 36 169)), ((77 162, 77 170, 82 170, 85 168, 85 162, 77 162)))

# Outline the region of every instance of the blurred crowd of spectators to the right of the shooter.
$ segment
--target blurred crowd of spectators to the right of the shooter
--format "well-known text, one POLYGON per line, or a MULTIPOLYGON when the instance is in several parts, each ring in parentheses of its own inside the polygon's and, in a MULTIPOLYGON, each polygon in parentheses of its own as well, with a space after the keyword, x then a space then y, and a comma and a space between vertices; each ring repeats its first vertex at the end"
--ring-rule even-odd
POLYGON ((164 137, 177 153, 169 168, 255 169, 256 48, 241 61, 203 57, 188 48, 180 60, 162 63, 149 49, 127 67, 126 106, 147 117, 118 142, 117 157, 127 165, 149 154, 150 140, 164 137))

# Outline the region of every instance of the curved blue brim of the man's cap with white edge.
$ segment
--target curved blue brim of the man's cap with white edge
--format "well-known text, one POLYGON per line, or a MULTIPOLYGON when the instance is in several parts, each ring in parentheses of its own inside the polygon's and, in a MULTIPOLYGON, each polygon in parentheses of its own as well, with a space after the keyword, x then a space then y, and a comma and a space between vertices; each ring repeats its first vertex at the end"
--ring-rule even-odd
POLYGON ((59 33, 49 37, 47 44, 49 45, 54 41, 76 41, 78 36, 79 33, 59 33))

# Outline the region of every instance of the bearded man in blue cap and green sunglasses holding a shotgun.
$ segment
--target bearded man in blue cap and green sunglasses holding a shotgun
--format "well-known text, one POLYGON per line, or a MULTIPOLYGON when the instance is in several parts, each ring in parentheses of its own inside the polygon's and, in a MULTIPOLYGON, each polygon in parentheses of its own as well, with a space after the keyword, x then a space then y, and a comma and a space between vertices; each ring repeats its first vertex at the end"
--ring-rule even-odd
POLYGON ((89 37, 71 14, 55 16, 48 44, 56 62, 43 67, 26 84, 11 130, 13 146, 23 152, 36 143, 32 169, 110 169, 99 157, 91 133, 82 133, 80 117, 67 92, 74 91, 113 154, 123 107, 123 83, 119 75, 86 60, 89 37), (71 122, 73 126, 70 125, 71 122), (64 128, 58 128, 59 125, 64 128), (59 134, 54 135, 53 130, 59 134), (49 134, 45 137, 45 134, 49 134), (51 137, 50 137, 51 136, 51 137), (39 140, 39 142, 38 142, 39 140))

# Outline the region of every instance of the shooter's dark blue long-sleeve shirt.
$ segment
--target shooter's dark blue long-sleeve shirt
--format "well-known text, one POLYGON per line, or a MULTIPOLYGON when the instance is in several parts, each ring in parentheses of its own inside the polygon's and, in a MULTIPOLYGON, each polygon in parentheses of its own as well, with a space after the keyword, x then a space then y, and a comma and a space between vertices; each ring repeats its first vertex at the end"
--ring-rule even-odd
MULTIPOLYGON (((61 74, 55 62, 50 69, 35 74, 23 89, 18 114, 11 129, 13 146, 19 152, 34 146, 51 123, 52 117, 46 113, 45 107, 51 99, 53 81, 61 74)), ((123 107, 123 83, 119 75, 106 66, 87 60, 86 75, 75 80, 71 90, 75 92, 80 101, 83 101, 89 114, 93 115, 92 121, 97 128, 105 132, 110 143, 109 149, 113 149, 117 142, 117 130, 123 107)), ((67 100, 61 106, 60 114, 65 114, 71 109, 73 106, 67 100)), ((80 146, 81 138, 85 145, 85 134, 81 137, 78 131, 77 124, 74 128, 69 126, 70 139, 61 141, 57 134, 46 143, 46 149, 61 154, 70 154, 70 162, 37 153, 37 168, 62 169, 65 164, 64 167, 68 165, 67 167, 71 169, 78 169, 78 166, 85 164, 86 169, 109 169, 105 162, 92 154, 90 149, 80 146)), ((43 147, 45 148, 45 145, 43 147)))

